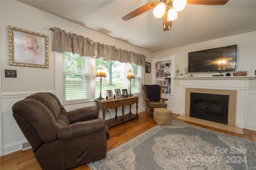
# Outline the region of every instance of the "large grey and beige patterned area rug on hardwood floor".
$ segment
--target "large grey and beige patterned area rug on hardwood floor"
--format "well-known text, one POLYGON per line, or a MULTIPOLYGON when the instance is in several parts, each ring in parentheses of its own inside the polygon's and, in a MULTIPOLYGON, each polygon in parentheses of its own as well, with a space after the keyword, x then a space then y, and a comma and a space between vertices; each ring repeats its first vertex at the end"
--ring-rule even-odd
POLYGON ((90 162, 91 170, 255 170, 256 142, 179 121, 156 125, 90 162))

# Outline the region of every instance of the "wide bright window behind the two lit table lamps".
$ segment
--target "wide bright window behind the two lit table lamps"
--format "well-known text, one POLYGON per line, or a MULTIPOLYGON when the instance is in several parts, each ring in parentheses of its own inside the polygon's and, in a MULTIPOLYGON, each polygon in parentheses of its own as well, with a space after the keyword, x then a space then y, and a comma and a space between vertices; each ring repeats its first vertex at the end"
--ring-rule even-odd
MULTIPOLYGON (((106 98, 106 90, 127 89, 130 93, 130 79, 127 79, 129 70, 134 71, 135 78, 132 79, 132 94, 141 93, 142 66, 136 64, 120 63, 118 61, 104 61, 102 58, 95 59, 95 72, 98 68, 104 68, 106 77, 102 77, 101 96, 106 98)), ((95 80, 95 98, 100 96, 100 78, 95 80)))

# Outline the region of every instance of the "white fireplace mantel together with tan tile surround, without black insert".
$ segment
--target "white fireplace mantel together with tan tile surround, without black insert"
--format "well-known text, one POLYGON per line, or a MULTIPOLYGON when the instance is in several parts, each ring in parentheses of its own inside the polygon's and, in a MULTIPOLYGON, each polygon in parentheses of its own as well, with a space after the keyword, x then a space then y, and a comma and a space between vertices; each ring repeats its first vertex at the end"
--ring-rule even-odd
POLYGON ((190 92, 229 95, 228 125, 245 128, 249 80, 254 78, 255 76, 177 77, 180 84, 178 113, 190 116, 190 92))

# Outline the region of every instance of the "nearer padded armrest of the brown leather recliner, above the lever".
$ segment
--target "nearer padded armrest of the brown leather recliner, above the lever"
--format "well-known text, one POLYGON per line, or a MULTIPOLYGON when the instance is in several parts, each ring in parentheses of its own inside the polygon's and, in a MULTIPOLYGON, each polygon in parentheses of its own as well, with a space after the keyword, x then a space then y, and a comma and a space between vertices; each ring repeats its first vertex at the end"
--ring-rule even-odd
POLYGON ((60 140, 68 140, 77 137, 84 137, 102 131, 105 127, 106 122, 102 118, 77 122, 61 129, 57 138, 60 140))

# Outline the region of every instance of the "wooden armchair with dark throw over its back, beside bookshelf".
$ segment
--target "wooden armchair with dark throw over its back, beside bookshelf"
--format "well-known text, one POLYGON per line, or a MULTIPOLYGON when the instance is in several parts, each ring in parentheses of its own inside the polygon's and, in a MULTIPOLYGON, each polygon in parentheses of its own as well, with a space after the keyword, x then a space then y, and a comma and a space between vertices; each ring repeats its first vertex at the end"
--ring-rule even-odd
POLYGON ((162 98, 162 84, 161 86, 141 84, 144 100, 146 103, 146 114, 150 117, 154 112, 154 108, 167 107, 166 100, 162 98))

